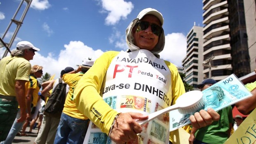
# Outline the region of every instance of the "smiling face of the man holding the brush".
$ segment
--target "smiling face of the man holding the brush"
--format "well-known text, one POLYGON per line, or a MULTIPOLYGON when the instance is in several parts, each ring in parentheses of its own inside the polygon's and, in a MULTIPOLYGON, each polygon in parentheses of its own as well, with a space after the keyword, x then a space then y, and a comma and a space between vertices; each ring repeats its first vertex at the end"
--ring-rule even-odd
MULTIPOLYGON (((147 21, 161 27, 159 19, 153 15, 146 15, 140 21, 147 21)), ((147 29, 140 31, 136 31, 136 28, 134 28, 133 37, 136 46, 138 46, 140 49, 147 49, 149 51, 156 46, 159 40, 159 36, 152 33, 151 25, 149 25, 147 29)))

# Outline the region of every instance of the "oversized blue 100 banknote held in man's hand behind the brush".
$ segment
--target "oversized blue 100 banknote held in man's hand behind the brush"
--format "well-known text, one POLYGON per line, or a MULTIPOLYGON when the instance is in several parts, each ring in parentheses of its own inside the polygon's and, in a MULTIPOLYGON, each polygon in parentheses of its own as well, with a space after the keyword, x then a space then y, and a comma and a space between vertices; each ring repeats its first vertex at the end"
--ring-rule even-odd
MULTIPOLYGON (((245 88, 244 84, 236 77, 235 74, 231 74, 225 79, 218 81, 216 84, 206 88, 202 93, 204 100, 204 107, 202 109, 207 110, 211 107, 215 111, 233 105, 251 96, 251 92, 245 88)), ((199 110, 195 110, 194 112, 199 110)), ((194 112, 180 114, 178 109, 170 111, 170 131, 190 124, 189 117, 194 114, 194 112)))

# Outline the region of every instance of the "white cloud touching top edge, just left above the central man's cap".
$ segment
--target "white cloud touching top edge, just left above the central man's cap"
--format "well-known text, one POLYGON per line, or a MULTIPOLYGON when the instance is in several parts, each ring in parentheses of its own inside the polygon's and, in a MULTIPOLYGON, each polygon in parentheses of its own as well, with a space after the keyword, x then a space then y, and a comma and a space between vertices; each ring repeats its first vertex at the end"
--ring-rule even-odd
POLYGON ((126 2, 124 0, 101 0, 103 12, 108 13, 105 19, 106 25, 115 25, 120 19, 127 19, 128 14, 133 9, 132 2, 126 2))

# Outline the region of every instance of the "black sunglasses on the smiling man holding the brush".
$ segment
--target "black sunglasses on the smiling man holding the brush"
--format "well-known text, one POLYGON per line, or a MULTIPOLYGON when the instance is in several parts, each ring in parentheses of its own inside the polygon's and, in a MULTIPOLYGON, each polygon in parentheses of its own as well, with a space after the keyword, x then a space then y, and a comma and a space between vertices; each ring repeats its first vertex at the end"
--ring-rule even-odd
POLYGON ((162 33, 162 28, 154 23, 149 23, 147 21, 138 21, 135 26, 137 26, 137 30, 146 30, 148 27, 151 27, 152 33, 157 36, 160 36, 162 33))

